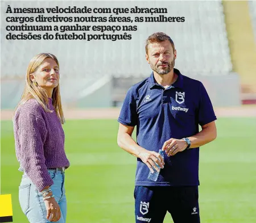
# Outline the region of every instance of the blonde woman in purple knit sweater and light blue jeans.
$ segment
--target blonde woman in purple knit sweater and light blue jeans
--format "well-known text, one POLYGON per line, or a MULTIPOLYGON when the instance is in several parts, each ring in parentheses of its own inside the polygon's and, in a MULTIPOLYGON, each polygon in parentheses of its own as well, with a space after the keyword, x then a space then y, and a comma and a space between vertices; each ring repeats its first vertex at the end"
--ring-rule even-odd
POLYGON ((23 171, 19 203, 30 223, 65 223, 64 116, 59 62, 50 53, 32 58, 26 86, 14 114, 16 157, 23 171))

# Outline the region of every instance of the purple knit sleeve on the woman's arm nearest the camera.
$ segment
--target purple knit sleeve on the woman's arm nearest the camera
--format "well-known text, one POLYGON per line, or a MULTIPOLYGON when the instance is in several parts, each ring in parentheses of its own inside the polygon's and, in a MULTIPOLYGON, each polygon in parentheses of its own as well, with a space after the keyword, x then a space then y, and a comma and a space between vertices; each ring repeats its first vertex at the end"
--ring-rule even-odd
POLYGON ((47 129, 43 117, 27 110, 21 110, 18 119, 20 163, 35 184, 38 191, 51 186, 53 180, 48 174, 44 158, 44 141, 47 129))

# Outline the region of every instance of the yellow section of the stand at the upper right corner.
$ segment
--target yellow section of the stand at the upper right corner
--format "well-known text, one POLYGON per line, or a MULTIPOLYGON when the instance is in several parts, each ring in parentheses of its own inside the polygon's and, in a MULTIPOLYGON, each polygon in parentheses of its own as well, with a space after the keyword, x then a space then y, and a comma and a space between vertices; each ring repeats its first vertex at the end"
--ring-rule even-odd
POLYGON ((243 104, 256 103, 256 45, 251 3, 223 2, 230 55, 233 70, 240 75, 243 104))

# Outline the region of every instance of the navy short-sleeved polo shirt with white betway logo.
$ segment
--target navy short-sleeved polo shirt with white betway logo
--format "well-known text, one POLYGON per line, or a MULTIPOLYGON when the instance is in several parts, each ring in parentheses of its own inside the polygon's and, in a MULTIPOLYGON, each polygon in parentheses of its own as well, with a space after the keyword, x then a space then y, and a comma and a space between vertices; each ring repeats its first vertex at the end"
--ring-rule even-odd
MULTIPOLYGON (((149 78, 133 85, 118 117, 123 125, 137 125, 137 144, 159 152, 170 138, 181 139, 199 132, 199 125, 216 120, 212 103, 203 83, 182 75, 167 89, 151 73, 149 78)), ((150 170, 137 158, 136 186, 198 186, 199 148, 164 155, 164 169, 156 182, 147 179, 150 170)))

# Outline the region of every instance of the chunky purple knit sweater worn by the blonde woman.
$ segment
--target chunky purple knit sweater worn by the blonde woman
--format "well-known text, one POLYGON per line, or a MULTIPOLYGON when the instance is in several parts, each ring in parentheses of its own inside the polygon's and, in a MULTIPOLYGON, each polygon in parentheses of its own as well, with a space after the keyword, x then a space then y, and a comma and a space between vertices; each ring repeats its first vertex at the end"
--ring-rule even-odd
POLYGON ((45 112, 35 99, 30 99, 14 114, 16 157, 38 191, 53 184, 48 168, 69 166, 64 131, 51 98, 49 109, 53 112, 45 112))

